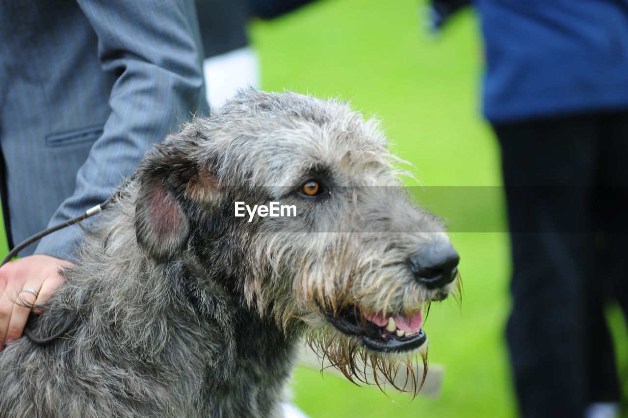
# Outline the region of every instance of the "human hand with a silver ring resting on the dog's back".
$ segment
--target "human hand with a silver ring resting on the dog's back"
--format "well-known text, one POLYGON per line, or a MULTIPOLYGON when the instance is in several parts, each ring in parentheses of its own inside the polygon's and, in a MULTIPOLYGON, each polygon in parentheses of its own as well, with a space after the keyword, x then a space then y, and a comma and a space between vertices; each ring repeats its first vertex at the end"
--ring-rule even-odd
MULTIPOLYGON (((10 261, 0 267, 0 351, 4 344, 18 340, 31 309, 24 305, 43 304, 63 283, 59 272, 73 264, 50 255, 36 254, 10 261), (35 294, 23 289, 32 289, 35 294)), ((33 312, 40 314, 42 309, 33 312)))

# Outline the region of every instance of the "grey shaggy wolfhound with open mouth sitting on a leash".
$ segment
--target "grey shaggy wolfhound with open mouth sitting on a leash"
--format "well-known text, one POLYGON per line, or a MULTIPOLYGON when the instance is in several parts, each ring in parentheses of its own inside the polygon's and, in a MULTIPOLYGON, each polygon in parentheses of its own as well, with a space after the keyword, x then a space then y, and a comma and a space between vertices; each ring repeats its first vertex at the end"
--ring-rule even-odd
MULTIPOLYGON (((279 417, 301 338, 350 380, 425 358, 458 255, 373 121, 242 91, 139 163, 67 282, 0 353, 2 417, 279 417), (234 202, 296 216, 234 216, 234 202)), ((372 374, 371 374, 372 376, 372 374)), ((425 375, 424 375, 425 378, 425 375)), ((410 375, 401 390, 416 392, 410 375)))

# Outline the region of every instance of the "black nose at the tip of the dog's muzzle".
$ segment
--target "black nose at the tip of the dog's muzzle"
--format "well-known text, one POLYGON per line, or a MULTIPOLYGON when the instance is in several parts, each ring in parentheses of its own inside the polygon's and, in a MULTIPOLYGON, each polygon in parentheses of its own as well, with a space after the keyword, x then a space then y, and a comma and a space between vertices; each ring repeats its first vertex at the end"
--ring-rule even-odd
POLYGON ((453 282, 458 274, 458 262, 460 255, 448 242, 430 245, 408 259, 414 277, 428 289, 453 282))

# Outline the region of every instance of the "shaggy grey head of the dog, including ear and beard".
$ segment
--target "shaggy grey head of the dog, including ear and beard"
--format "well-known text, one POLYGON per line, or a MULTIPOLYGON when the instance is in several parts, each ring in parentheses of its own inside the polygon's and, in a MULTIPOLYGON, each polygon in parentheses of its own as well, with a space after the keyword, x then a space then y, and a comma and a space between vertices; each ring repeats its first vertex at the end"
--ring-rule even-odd
POLYGON ((286 330, 306 324, 347 377, 364 380, 363 362, 392 380, 425 354, 426 307, 458 284, 458 254, 396 163, 346 104, 249 89, 141 163, 138 242, 286 330))

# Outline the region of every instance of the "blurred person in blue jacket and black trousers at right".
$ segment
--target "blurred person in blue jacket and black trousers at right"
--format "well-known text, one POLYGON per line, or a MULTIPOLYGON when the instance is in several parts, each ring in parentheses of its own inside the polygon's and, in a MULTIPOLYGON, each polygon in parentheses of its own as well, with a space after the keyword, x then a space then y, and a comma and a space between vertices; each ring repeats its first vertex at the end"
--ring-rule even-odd
MULTIPOLYGON (((440 29, 465 0, 433 0, 440 29)), ((526 417, 614 417, 604 305, 628 312, 628 1, 475 0, 511 229, 507 324, 526 417)))

